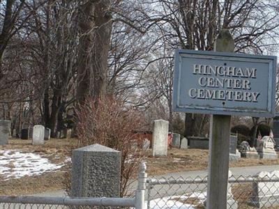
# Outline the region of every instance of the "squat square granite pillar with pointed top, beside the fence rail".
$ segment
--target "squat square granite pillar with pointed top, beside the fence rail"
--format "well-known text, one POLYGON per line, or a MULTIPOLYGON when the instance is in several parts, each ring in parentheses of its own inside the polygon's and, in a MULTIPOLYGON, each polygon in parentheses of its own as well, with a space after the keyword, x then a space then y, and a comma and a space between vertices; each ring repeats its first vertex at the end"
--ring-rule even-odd
POLYGON ((100 144, 73 150, 71 196, 119 197, 121 152, 100 144))

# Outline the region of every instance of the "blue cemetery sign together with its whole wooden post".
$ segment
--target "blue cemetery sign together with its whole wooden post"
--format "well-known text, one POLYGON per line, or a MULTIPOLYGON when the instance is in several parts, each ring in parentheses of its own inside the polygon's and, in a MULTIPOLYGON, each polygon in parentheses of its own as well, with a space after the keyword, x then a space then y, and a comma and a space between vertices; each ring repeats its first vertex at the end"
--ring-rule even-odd
POLYGON ((273 117, 276 56, 236 54, 228 30, 215 52, 176 50, 174 111, 211 114, 206 209, 227 208, 231 115, 273 117))

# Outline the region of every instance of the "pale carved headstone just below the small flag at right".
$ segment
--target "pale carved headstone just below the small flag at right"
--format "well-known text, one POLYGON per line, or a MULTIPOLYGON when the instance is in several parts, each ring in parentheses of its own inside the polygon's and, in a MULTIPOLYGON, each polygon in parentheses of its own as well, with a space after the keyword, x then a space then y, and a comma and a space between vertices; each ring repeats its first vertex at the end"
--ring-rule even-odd
POLYGON ((265 136, 259 141, 257 152, 259 157, 263 159, 277 159, 278 155, 274 149, 275 142, 271 137, 265 136))

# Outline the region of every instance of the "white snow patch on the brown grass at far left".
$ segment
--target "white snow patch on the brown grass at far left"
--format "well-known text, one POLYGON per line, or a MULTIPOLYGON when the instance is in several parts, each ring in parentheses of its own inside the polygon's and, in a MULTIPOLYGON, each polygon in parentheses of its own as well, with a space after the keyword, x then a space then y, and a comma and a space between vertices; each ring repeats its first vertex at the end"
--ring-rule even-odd
MULTIPOLYGON (((67 160, 66 160, 67 161, 67 160)), ((0 175, 4 180, 36 176, 61 169, 65 163, 53 164, 47 158, 19 150, 0 150, 0 175)))

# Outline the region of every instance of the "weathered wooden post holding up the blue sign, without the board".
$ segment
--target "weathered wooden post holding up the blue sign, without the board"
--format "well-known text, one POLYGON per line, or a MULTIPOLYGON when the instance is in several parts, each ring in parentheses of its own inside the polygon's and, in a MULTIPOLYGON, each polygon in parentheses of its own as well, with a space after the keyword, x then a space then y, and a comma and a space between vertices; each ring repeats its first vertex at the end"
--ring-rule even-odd
MULTIPOLYGON (((234 52, 234 39, 228 30, 220 31, 214 50, 234 52)), ((206 209, 227 208, 230 123, 231 116, 211 115, 206 209)))

